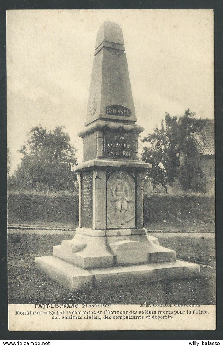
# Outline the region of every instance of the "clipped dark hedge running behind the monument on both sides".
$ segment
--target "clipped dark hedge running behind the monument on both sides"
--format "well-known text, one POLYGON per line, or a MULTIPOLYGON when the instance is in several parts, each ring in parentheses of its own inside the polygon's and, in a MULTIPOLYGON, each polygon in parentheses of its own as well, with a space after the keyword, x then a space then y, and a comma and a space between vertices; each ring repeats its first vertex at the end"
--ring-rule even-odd
MULTIPOLYGON (((163 222, 198 221, 208 223, 215 219, 214 196, 202 194, 144 196, 144 221, 163 222)), ((78 195, 47 195, 12 193, 8 195, 8 222, 64 222, 78 221, 78 195)))

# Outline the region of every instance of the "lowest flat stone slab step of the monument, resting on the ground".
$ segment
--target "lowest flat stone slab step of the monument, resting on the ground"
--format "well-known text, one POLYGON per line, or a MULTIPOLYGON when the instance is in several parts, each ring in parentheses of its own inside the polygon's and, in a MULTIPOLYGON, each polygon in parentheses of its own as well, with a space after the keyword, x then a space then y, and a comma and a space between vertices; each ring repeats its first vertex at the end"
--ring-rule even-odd
POLYGON ((36 257, 35 268, 73 292, 183 280, 196 277, 200 271, 198 264, 178 260, 86 270, 54 256, 36 257))

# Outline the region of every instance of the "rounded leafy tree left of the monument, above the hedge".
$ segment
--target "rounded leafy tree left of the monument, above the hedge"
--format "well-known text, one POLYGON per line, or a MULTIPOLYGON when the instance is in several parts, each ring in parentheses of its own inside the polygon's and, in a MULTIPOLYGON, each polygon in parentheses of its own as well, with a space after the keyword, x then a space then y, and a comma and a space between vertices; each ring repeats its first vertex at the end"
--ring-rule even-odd
POLYGON ((15 173, 17 188, 35 190, 74 190, 76 174, 71 167, 77 165, 75 149, 63 126, 47 130, 41 125, 28 133, 26 145, 19 150, 23 154, 15 173))

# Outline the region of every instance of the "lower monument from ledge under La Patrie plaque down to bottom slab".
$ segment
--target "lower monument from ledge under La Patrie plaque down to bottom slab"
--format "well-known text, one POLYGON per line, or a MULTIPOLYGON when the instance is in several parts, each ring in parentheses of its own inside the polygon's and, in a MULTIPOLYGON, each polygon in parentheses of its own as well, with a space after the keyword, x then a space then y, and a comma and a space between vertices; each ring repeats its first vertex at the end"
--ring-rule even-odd
POLYGON ((188 279, 199 273, 199 265, 176 261, 176 251, 160 246, 143 228, 144 163, 97 159, 75 169, 79 227, 73 239, 53 247, 53 256, 36 257, 36 269, 73 292, 188 279), (124 209, 115 196, 126 196, 124 209), (126 227, 131 222, 132 227, 126 227))

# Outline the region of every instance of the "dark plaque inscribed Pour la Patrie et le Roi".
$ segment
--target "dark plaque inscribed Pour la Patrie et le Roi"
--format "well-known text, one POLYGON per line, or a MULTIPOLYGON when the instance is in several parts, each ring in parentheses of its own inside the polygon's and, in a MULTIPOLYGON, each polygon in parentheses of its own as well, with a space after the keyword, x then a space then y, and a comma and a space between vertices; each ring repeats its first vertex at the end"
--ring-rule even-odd
POLYGON ((104 137, 104 157, 134 158, 134 134, 125 132, 106 132, 104 137))

